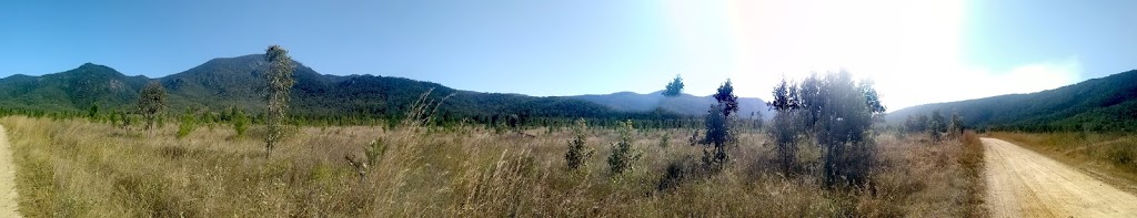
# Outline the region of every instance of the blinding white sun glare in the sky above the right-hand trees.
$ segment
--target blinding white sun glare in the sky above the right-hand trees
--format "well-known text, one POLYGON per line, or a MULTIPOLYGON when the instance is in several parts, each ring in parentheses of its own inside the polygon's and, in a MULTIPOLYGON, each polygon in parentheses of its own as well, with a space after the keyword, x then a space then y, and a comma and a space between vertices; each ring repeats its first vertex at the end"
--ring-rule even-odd
POLYGON ((847 70, 875 84, 889 111, 945 101, 997 94, 1029 93, 1081 79, 1077 56, 1040 60, 1010 69, 991 69, 963 60, 963 1, 667 1, 680 33, 699 31, 703 23, 727 23, 729 31, 709 32, 682 42, 689 53, 725 53, 699 60, 690 72, 729 72, 695 76, 689 93, 711 94, 730 77, 739 93, 766 94, 782 76, 800 81, 812 73, 847 70), (827 7, 814 7, 827 6, 827 7), (695 8, 695 9, 692 9, 695 8), (694 19, 723 18, 717 22, 694 19), (714 35, 724 33, 725 35, 714 35), (700 41, 723 39, 730 43, 700 41))

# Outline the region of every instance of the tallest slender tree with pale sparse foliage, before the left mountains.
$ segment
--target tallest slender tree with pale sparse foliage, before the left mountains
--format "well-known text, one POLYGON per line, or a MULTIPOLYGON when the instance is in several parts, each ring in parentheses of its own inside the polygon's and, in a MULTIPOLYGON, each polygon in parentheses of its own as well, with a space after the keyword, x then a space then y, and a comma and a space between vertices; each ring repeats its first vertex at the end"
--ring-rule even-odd
POLYGON ((288 56, 288 50, 280 45, 268 47, 265 51, 265 61, 268 61, 268 72, 265 74, 268 81, 268 112, 266 112, 268 133, 265 134, 265 158, 268 158, 273 148, 284 137, 289 97, 292 85, 296 84, 293 75, 296 65, 288 56))

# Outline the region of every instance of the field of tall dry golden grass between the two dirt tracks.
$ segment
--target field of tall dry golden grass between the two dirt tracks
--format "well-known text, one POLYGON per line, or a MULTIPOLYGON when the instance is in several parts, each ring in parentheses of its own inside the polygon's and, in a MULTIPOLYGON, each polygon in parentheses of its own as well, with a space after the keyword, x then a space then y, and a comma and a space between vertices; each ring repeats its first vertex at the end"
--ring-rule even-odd
MULTIPOLYGON (((879 136, 872 188, 827 190, 814 173, 778 175, 765 137, 749 133, 721 174, 658 191, 669 162, 700 154, 681 143, 690 131, 636 133, 644 158, 632 171, 609 175, 604 157, 616 134, 607 129, 590 131, 588 146, 597 153, 570 171, 566 131, 528 137, 471 126, 305 127, 265 159, 258 127, 246 137, 218 127, 176 140, 173 126, 147 136, 85 120, 0 124, 10 132, 20 212, 28 217, 984 215, 973 199, 982 184, 972 146, 958 141, 879 136), (663 135, 680 143, 661 148, 663 135), (360 179, 345 157, 362 157, 374 140, 389 148, 360 179)), ((818 164, 818 150, 802 149, 806 169, 818 164)))

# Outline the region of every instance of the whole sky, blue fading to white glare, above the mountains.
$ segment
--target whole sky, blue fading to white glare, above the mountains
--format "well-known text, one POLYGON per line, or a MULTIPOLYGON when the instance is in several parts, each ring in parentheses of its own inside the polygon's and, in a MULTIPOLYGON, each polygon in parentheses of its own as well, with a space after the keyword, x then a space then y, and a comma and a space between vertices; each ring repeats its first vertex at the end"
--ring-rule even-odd
POLYGON ((0 77, 84 62, 159 77, 281 44, 334 75, 529 95, 662 90, 770 99, 847 70, 889 110, 1137 68, 1130 0, 2 1, 0 77))

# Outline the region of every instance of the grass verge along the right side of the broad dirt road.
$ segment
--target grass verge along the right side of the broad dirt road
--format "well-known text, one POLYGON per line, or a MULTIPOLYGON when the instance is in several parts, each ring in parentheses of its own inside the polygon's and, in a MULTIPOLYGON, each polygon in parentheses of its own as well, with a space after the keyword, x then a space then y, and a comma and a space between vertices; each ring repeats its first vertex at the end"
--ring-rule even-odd
POLYGON ((1137 135, 1124 133, 993 132, 1006 140, 1074 166, 1130 193, 1137 193, 1137 135))

